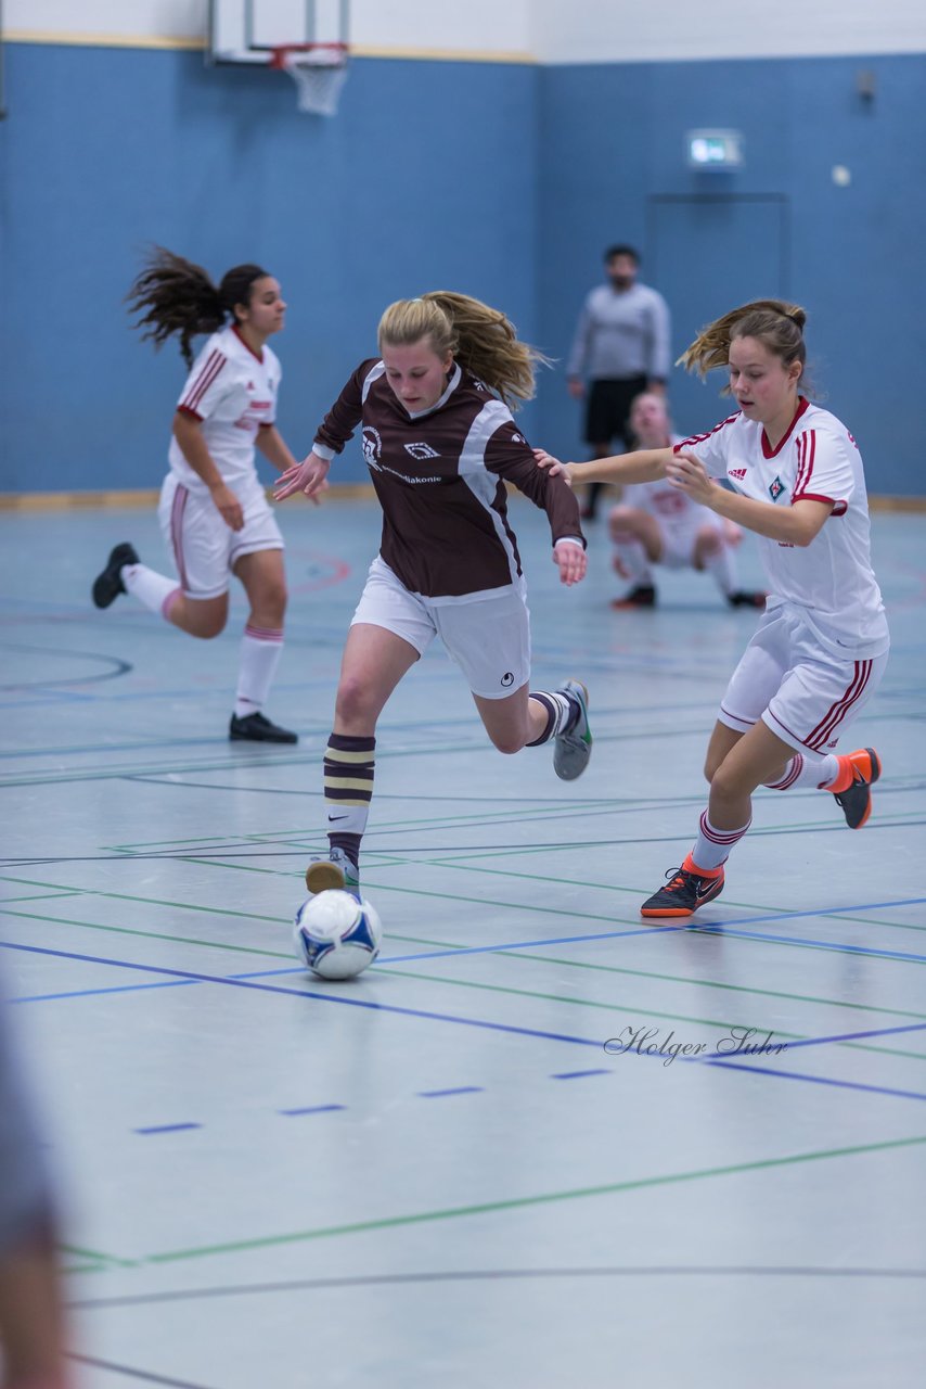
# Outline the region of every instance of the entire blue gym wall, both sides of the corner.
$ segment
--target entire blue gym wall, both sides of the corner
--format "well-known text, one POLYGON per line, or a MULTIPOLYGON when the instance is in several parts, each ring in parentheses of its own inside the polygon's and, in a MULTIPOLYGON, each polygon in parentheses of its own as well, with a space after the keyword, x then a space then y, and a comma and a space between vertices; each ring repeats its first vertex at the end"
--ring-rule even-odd
MULTIPOLYGON (((462 289, 562 360, 603 247, 629 240, 644 279, 690 276, 711 304, 716 286, 718 313, 732 286, 805 304, 815 376, 859 439, 869 489, 926 493, 926 56, 357 60, 333 119, 300 115, 282 74, 210 69, 189 51, 17 43, 6 78, 1 490, 158 485, 183 368, 174 347, 155 356, 131 332, 122 306, 150 242, 215 274, 255 258, 280 278, 280 425, 301 451, 392 299, 462 289), (872 100, 857 92, 861 68, 872 100), (744 132, 740 172, 686 168, 684 131, 712 125, 744 132), (851 169, 848 188, 834 164, 851 169), (709 267, 665 264, 668 200, 705 192, 736 207, 776 200, 775 276, 736 218, 709 267)), ((676 354, 684 344, 676 336, 676 354)), ((701 389, 704 413, 687 418, 690 388, 673 383, 686 429, 723 414, 701 389)), ((579 425, 562 368, 546 372, 530 436, 576 454, 579 425)), ((365 478, 357 450, 340 478, 365 478)))

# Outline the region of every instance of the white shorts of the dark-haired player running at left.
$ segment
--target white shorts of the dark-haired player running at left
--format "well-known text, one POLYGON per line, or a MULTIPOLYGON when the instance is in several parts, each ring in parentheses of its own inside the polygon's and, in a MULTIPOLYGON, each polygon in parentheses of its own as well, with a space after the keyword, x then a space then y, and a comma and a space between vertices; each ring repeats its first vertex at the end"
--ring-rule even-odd
POLYGON ((189 599, 221 597, 243 554, 285 547, 260 482, 236 483, 233 492, 244 508, 242 531, 225 524, 208 492, 190 490, 172 472, 164 479, 158 521, 189 599))

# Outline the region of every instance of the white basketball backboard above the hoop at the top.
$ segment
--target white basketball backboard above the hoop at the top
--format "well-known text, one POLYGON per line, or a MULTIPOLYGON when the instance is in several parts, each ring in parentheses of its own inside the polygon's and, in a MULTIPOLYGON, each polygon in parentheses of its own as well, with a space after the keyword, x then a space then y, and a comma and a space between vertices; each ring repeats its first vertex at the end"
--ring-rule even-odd
POLYGON ((210 0, 210 63, 269 63, 285 44, 347 43, 350 0, 210 0))

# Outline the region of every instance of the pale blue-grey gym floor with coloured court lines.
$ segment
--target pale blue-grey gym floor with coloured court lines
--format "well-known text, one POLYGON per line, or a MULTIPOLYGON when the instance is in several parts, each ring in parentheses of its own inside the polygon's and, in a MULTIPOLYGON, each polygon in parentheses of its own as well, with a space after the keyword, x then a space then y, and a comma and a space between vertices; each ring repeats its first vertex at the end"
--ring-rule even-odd
MULTIPOLYGON (((376 550, 289 504, 287 643, 229 745, 237 643, 131 599, 137 510, 0 513, 0 951, 67 1210, 78 1389, 912 1389, 926 1364, 926 517, 876 515, 893 657, 851 746, 875 813, 761 793, 721 899, 637 914, 689 850, 755 615, 659 575, 614 613, 603 522, 565 590, 512 507, 539 688, 594 754, 496 753, 433 650, 379 728, 364 890, 382 957, 326 985, 293 911, 376 550), (759 1054, 732 1029, 755 1029, 759 1054), (608 1039, 662 1046, 623 1054, 608 1039), (668 1047, 704 1045, 671 1060, 668 1047), (784 1050, 775 1050, 786 1045, 784 1050)), ((761 585, 754 549, 740 560, 761 585)))

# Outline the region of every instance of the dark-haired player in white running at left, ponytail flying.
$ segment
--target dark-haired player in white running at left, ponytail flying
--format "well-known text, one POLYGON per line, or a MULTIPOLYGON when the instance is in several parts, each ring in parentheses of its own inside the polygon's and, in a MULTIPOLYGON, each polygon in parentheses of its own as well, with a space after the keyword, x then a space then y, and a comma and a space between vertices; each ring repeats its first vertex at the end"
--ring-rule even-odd
POLYGON ((171 471, 158 517, 176 579, 117 544, 93 583, 108 607, 131 593, 190 636, 212 638, 228 621, 229 578, 240 579, 250 613, 242 639, 232 740, 294 743, 297 735, 262 713, 283 651, 283 538, 257 476, 255 446, 279 472, 294 467, 276 425, 280 365, 267 346, 286 304, 260 265, 236 265, 218 288, 199 265, 157 250, 129 292, 137 326, 161 346, 174 333, 190 367, 174 415, 171 471), (230 322, 226 324, 226 318, 230 322), (196 361, 190 339, 210 333, 196 361))

